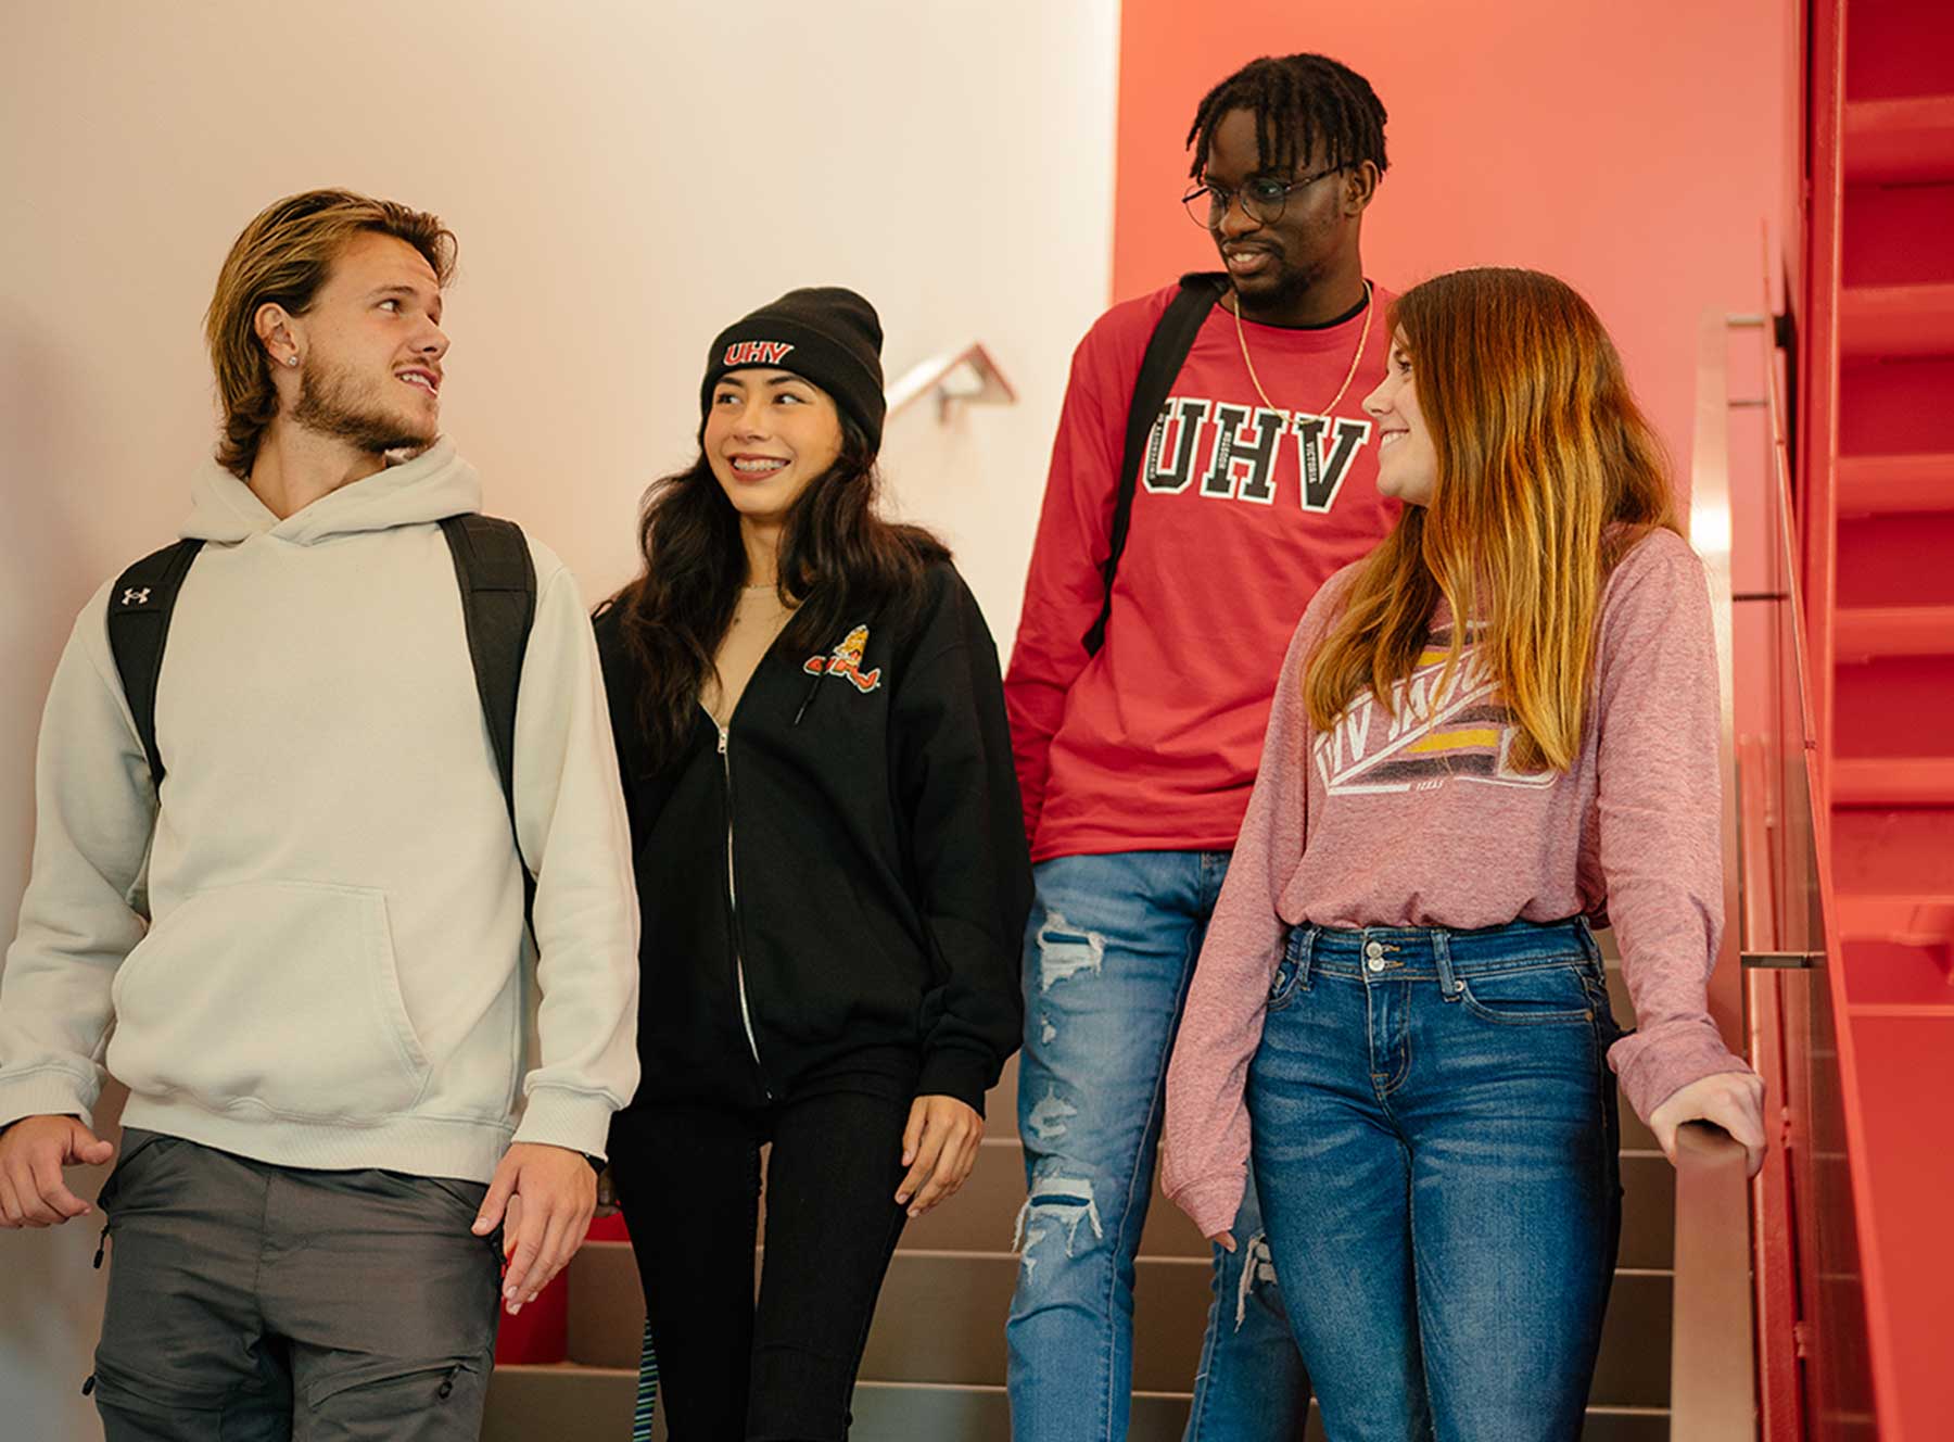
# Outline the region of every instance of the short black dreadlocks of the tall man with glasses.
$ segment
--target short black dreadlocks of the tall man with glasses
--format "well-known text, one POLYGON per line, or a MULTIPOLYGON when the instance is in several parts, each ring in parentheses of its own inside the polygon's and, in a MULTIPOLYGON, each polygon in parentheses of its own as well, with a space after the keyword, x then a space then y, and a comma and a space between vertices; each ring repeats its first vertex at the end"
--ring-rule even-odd
POLYGON ((1337 168, 1370 160, 1380 174, 1389 164, 1383 102, 1370 80, 1327 55, 1264 55, 1202 96, 1186 141, 1196 180, 1208 170, 1215 125, 1231 109, 1254 111, 1254 143, 1268 170, 1294 170, 1309 154, 1337 168))

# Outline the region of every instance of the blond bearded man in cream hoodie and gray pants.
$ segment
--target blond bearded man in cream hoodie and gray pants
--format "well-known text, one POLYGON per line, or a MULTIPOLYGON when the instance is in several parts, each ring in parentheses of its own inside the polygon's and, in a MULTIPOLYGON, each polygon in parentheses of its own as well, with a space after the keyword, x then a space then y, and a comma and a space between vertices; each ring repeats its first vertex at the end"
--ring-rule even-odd
POLYGON ((113 582, 49 692, 0 977, 0 1225, 90 1213, 63 1168, 113 1157, 92 1108, 104 1071, 125 1082, 100 1204, 109 1442, 289 1436, 295 1413, 477 1436, 496 1303, 574 1252, 637 1086, 602 678, 533 541, 508 795, 477 694, 440 528, 481 502, 440 438, 451 268, 436 217, 348 191, 244 229, 211 303, 225 432, 184 524, 203 545, 156 750, 113 582))

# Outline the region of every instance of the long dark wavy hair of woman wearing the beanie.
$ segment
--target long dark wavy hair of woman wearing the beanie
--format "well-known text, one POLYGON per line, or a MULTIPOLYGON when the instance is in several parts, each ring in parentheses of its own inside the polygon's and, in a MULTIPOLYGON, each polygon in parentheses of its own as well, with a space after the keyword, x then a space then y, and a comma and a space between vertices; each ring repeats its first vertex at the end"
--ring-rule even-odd
MULTIPOLYGON (((846 414, 836 420, 834 465, 795 498, 780 531, 778 592, 793 608, 784 633, 791 651, 827 651, 864 614, 916 596, 924 567, 950 559, 950 547, 924 528, 883 520, 875 449, 846 414)), ((645 571, 610 606, 643 674, 637 719, 649 766, 658 770, 698 725, 700 690, 746 584, 739 512, 705 459, 703 422, 698 459, 645 490, 637 549, 645 571)))

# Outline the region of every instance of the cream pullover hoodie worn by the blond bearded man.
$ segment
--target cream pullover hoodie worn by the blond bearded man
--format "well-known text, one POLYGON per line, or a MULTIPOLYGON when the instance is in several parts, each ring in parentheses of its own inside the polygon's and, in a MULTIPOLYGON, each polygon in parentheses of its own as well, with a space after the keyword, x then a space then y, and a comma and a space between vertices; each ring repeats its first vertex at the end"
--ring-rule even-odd
POLYGON ((0 1124, 90 1118, 106 1061, 129 1125, 285 1166, 488 1180, 512 1129, 604 1153, 637 1086, 604 682, 574 578, 531 541, 514 774, 535 955, 436 524, 479 504, 446 440, 285 520, 205 467, 156 694, 160 803, 109 586, 88 602, 41 723, 0 1124))

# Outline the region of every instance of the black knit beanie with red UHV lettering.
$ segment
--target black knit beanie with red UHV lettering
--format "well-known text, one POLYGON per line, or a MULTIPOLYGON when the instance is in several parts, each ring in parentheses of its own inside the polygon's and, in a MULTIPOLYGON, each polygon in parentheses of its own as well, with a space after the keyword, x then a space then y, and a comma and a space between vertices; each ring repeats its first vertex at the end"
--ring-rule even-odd
POLYGON ((735 320, 705 356, 700 414, 713 404, 713 387, 727 371, 770 365, 793 371, 830 397, 836 408, 881 449, 881 320, 875 307, 840 285, 787 291, 772 305, 735 320))

